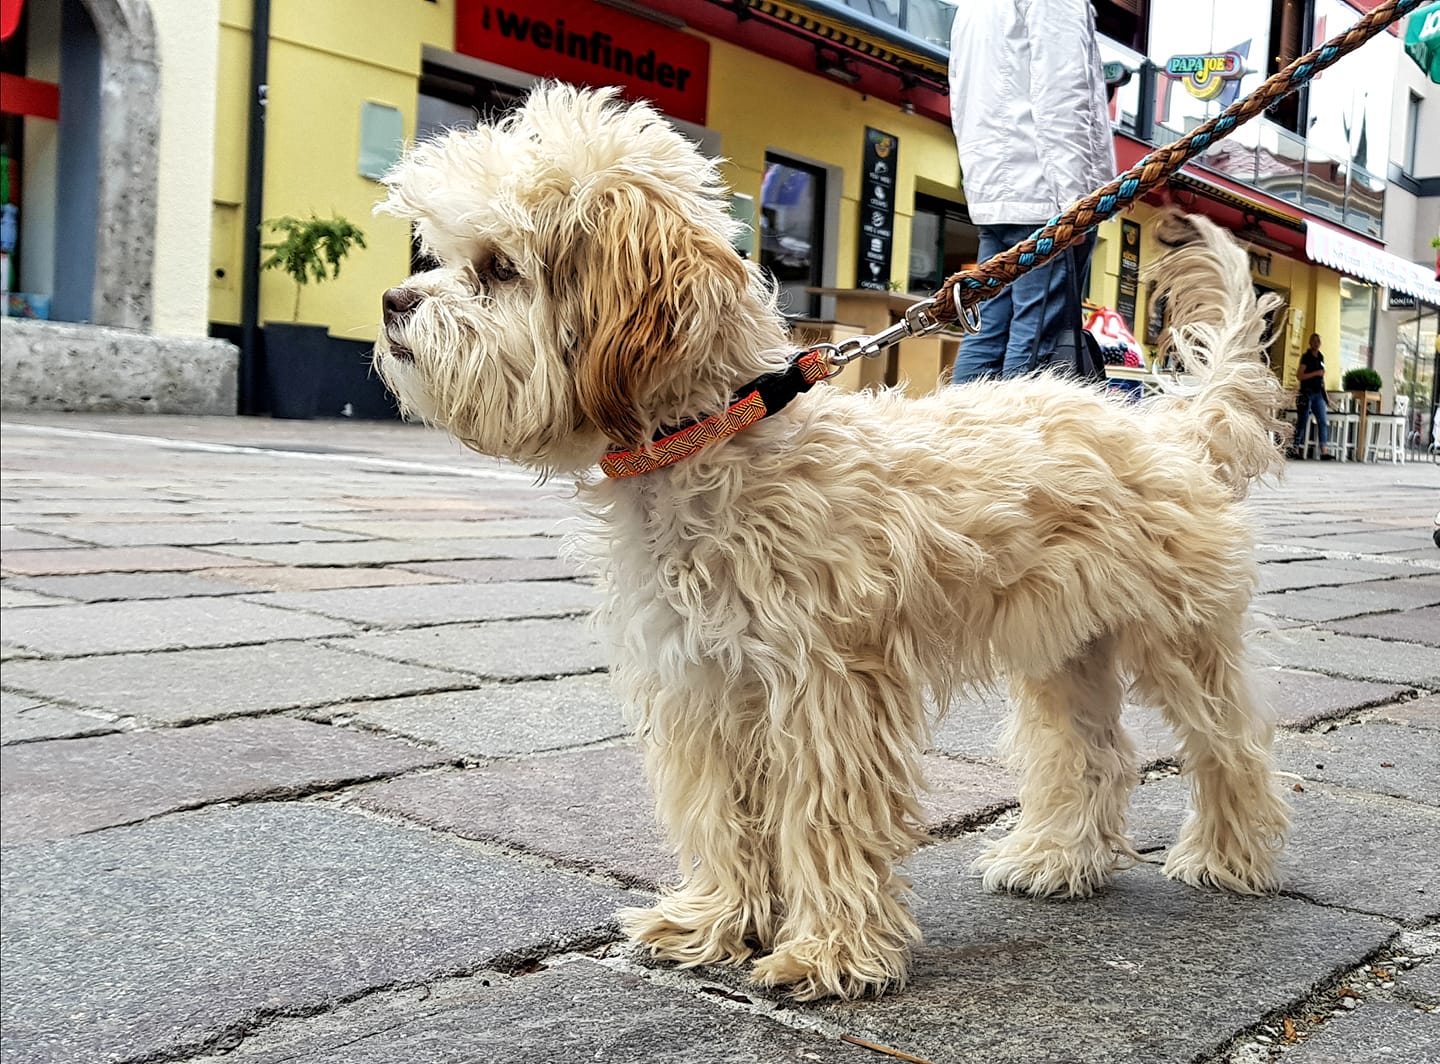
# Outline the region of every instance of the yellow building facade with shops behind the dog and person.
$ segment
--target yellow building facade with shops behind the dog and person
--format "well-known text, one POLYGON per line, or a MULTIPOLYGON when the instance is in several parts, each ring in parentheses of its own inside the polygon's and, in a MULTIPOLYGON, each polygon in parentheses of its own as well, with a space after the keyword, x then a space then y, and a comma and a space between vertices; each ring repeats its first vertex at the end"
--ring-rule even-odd
MULTIPOLYGON (((393 109, 406 144, 419 128, 419 109, 426 71, 448 71, 455 76, 475 76, 500 84, 516 94, 524 91, 537 73, 533 59, 517 46, 514 66, 504 55, 484 59, 456 50, 456 4, 471 0, 308 0, 304 4, 276 0, 269 24, 269 60, 266 76, 266 120, 264 153, 264 206, 266 219, 278 216, 327 217, 340 215, 360 225, 367 248, 346 259, 338 279, 311 285, 301 292, 300 320, 324 324, 333 337, 369 341, 379 324, 382 292, 410 272, 410 235, 403 222, 373 216, 382 197, 374 177, 361 176, 361 111, 366 105, 393 109), (397 17, 397 7, 403 16, 397 17)), ((549 19, 556 24, 563 16, 577 19, 589 0, 536 0, 517 4, 527 17, 549 19)), ((664 4, 658 4, 664 7, 664 4)), ((485 10, 490 10, 485 4, 485 10)), ((497 4, 498 7, 498 4, 497 4)), ((711 9, 694 4, 696 10, 711 9)), ((246 135, 249 115, 249 71, 252 55, 252 0, 220 0, 219 99, 216 109, 216 158, 213 179, 213 229, 210 240, 210 318, 217 331, 242 321, 246 135)), ((719 9, 717 9, 719 10, 719 9)), ((612 7, 603 9, 605 24, 636 19, 612 7)), ((701 141, 706 150, 723 157, 723 174, 742 200, 740 210, 766 202, 766 177, 776 160, 824 179, 824 232, 808 249, 814 265, 809 282, 796 291, 854 289, 860 276, 861 251, 870 230, 863 207, 865 131, 877 130, 899 145, 893 190, 893 226, 888 238, 888 276, 880 287, 929 294, 916 287, 914 263, 924 249, 919 246, 923 226, 917 215, 924 210, 953 209, 963 215, 963 190, 955 141, 943 109, 943 66, 930 56, 929 105, 916 108, 907 99, 896 102, 857 82, 837 79, 816 68, 765 55, 719 35, 704 26, 660 17, 645 27, 661 42, 680 35, 704 42, 704 111, 700 122, 677 122, 701 141), (744 206, 750 204, 750 206, 744 206), (819 245, 818 249, 815 245, 819 245), (914 268, 914 269, 913 269, 914 268)), ((864 42, 861 42, 864 43, 864 42)), ((878 45, 886 45, 881 40, 878 45)), ((850 69, 850 68, 845 68, 850 69)), ((919 69, 919 68, 916 68, 919 69)), ((923 73, 924 71, 922 71, 923 73)), ((865 75, 868 78, 868 73, 865 75)), ((1140 226, 1140 269, 1159 255, 1152 236, 1158 207, 1136 204, 1128 217, 1140 226)), ((1204 197, 1194 209, 1205 209, 1204 197)), ((763 230, 768 219, 756 210, 746 220, 763 230)), ((929 225, 929 219, 922 219, 929 225)), ((953 219, 952 219, 953 222, 953 219)), ((943 222, 942 225, 950 225, 943 222)), ((1263 230, 1263 226, 1260 226, 1263 230)), ((929 230, 926 230, 929 232, 929 230)), ((1094 304, 1116 307, 1122 285, 1120 222, 1112 219, 1100 227, 1092 269, 1089 298, 1094 304)), ((1333 337, 1339 330, 1339 275, 1303 261, 1302 253, 1284 253, 1276 246, 1256 248, 1253 265, 1257 285, 1273 288, 1287 299, 1290 312, 1273 353, 1276 371, 1286 386, 1293 386, 1299 354, 1306 337, 1318 331, 1333 337), (1263 271, 1263 272, 1261 272, 1263 271)), ((749 253, 759 256, 763 239, 749 253)), ((943 272, 960 265, 955 259, 943 272)), ((930 279, 943 275, 930 269, 930 279)), ((799 298, 799 297, 798 297, 799 298)), ((288 321, 295 289, 279 271, 265 271, 259 278, 259 321, 288 321)), ((847 323, 844 299, 815 297, 808 305, 792 307, 801 318, 847 323)), ((1149 315, 1143 282, 1135 299, 1135 334, 1146 341, 1149 315)), ((1146 344, 1148 350, 1151 346, 1146 344)), ((953 347, 949 348, 953 357, 953 347)), ((943 348, 923 359, 891 364, 890 377, 903 373, 913 390, 929 390, 943 370, 943 348)), ((1341 360, 1329 360, 1328 386, 1339 387, 1341 360)), ((871 374, 871 379, 880 379, 871 374)))

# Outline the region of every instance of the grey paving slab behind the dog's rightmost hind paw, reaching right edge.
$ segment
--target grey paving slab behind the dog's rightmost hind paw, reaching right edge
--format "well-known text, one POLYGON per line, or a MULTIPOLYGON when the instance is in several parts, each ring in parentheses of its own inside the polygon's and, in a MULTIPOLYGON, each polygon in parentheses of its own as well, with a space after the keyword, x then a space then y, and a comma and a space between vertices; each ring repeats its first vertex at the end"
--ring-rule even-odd
MULTIPOLYGON (((1407 923, 1440 914, 1440 812, 1325 783, 1286 788, 1293 826, 1282 867, 1284 890, 1407 923)), ((1189 785, 1145 783, 1130 803, 1130 835, 1142 851, 1169 847, 1185 819, 1189 785)))

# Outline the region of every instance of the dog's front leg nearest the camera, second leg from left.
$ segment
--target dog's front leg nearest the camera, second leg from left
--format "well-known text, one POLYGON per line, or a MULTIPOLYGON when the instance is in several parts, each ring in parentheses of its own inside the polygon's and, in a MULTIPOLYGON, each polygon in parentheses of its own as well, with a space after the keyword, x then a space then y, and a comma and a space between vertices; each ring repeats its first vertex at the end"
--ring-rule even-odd
POLYGON ((923 837, 923 703, 880 665, 816 668, 776 697, 765 786, 783 923, 753 979, 801 1001, 900 986, 920 939, 896 867, 923 837))

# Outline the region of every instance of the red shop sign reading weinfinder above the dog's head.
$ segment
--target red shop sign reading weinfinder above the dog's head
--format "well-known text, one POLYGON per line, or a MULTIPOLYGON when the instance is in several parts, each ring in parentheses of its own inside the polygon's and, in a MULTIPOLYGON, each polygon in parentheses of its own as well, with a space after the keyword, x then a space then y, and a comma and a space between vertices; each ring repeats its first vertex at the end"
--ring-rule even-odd
POLYGON ((619 85, 706 122, 710 42, 593 0, 459 0, 455 50, 575 85, 619 85))

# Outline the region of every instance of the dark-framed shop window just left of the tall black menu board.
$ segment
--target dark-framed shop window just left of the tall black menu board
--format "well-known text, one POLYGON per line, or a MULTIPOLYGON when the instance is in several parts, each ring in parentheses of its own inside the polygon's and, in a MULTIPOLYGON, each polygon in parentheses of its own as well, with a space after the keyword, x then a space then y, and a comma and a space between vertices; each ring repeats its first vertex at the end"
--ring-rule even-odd
POLYGON ((766 154, 760 181, 760 265, 775 278, 780 312, 812 318, 819 298, 825 233, 825 173, 766 154))

